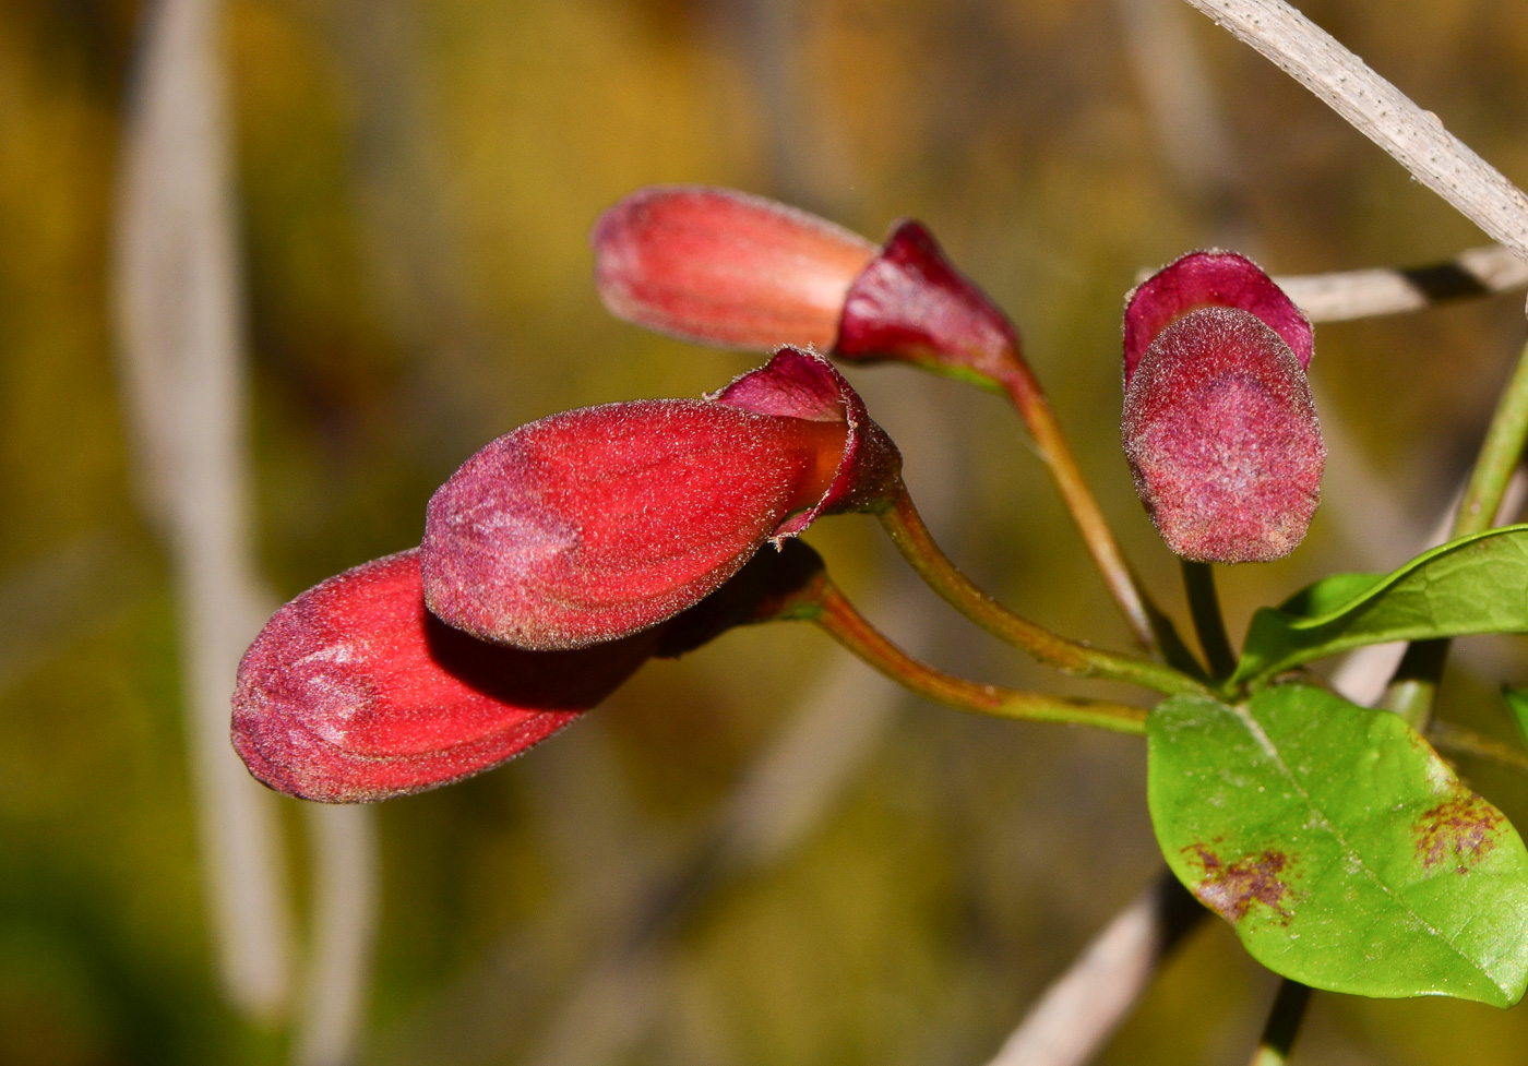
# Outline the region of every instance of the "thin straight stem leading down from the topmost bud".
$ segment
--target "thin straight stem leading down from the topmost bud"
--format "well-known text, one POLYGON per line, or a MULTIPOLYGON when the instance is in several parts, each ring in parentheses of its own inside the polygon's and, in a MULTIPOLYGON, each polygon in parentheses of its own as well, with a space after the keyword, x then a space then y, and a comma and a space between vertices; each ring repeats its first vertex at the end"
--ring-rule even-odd
POLYGON ((1114 531, 1103 518, 1099 501, 1094 498, 1093 489, 1088 487, 1088 480, 1082 475, 1082 467, 1077 466, 1071 444, 1067 443, 1067 435, 1062 432, 1060 423, 1056 422, 1056 414, 1051 411, 1050 400, 1045 399, 1034 371, 1024 359, 1015 356, 1001 385, 1019 417, 1024 418, 1024 425, 1028 426, 1041 460, 1050 467, 1060 498, 1071 513, 1071 521, 1077 524, 1077 531, 1082 533, 1082 541, 1086 544, 1093 562, 1103 574, 1109 596, 1114 597, 1120 614, 1129 623, 1137 643, 1146 651, 1155 651, 1157 634, 1152 619, 1154 614, 1160 615, 1161 612, 1152 609, 1151 599, 1125 562, 1114 531))

